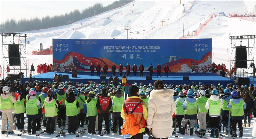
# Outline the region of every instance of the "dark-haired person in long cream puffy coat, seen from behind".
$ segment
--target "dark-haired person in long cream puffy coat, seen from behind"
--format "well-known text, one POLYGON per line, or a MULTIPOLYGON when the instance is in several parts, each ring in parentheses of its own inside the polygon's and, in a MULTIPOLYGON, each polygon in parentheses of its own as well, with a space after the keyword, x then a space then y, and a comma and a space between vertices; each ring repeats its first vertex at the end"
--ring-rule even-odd
POLYGON ((154 139, 167 139, 172 136, 172 115, 176 111, 174 90, 164 90, 162 80, 156 80, 154 90, 148 99, 147 128, 152 131, 154 139))

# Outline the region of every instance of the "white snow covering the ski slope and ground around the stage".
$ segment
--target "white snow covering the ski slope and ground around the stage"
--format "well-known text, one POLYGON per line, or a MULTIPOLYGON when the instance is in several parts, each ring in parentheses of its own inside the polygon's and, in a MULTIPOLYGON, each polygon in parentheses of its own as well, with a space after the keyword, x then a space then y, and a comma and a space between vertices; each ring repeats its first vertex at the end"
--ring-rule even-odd
MULTIPOLYGON (((233 14, 253 13, 256 1, 199 1, 199 0, 182 0, 180 1, 142 1, 136 0, 127 5, 114 10, 104 12, 94 17, 85 18, 73 24, 52 27, 44 30, 25 31, 20 33, 28 33, 26 41, 30 41, 27 45, 27 68, 31 63, 36 67, 41 63, 52 63, 52 55, 34 56, 32 51, 38 50, 39 42, 43 44, 43 48, 49 48, 52 45, 52 38, 73 38, 73 39, 126 39, 126 31, 124 26, 131 26, 129 31, 129 39, 178 39, 188 31, 196 30, 200 24, 210 16, 225 12, 233 14), (134 4, 134 6, 132 6, 134 4), (191 8, 190 8, 191 7, 191 8), (190 8, 190 9, 189 9, 190 8), (130 11, 132 9, 132 11, 130 11), (161 19, 165 19, 164 26, 160 23, 161 19), (82 23, 82 25, 81 25, 82 23), (74 29, 74 31, 73 31, 74 29), (137 33, 139 31, 139 33, 137 33)), ((227 68, 230 67, 230 40, 229 36, 235 35, 255 35, 256 23, 236 18, 217 16, 204 28, 204 30, 196 37, 190 38, 212 38, 212 62, 224 63, 227 68), (230 35, 229 35, 230 33, 230 35)), ((2 40, 2 37, 0 38, 2 40)), ((17 43, 17 40, 15 40, 17 43)), ((25 40, 22 40, 26 43, 25 40)), ((7 42, 4 38, 3 42, 7 42)), ((245 42, 244 42, 245 43, 245 42)), ((243 43, 242 43, 243 44, 243 43)), ((246 45, 246 44, 244 44, 246 45)), ((8 49, 8 48, 7 48, 8 49)), ((0 48, 2 53, 2 47, 0 48)), ((7 51, 4 48, 4 54, 7 51)), ((0 60, 3 65, 3 59, 0 60)), ((7 63, 4 59, 4 65, 7 63)), ((22 67, 25 68, 25 67, 22 67)), ((29 71, 28 71, 29 72, 29 71)), ((4 73, 6 75, 6 73, 4 73)), ((254 122, 253 119, 252 122, 254 122)), ((57 128, 57 130, 59 130, 57 128)), ((56 130, 56 131, 57 131, 56 130)), ((244 138, 253 138, 251 136, 252 128, 244 128, 244 138)), ((15 133, 18 133, 15 131, 15 133)), ((50 136, 40 136, 40 138, 56 138, 57 133, 50 136)), ((1 138, 7 138, 0 135, 1 138)), ((8 135, 8 138, 20 138, 16 135, 8 135)), ((86 138, 123 138, 118 135, 110 136, 92 136, 85 134, 86 138)), ((194 136, 180 136, 181 138, 198 138, 194 136)), ((209 134, 207 135, 209 136, 209 134)), ((32 136, 22 136, 22 138, 33 138, 32 136)), ((173 137, 173 136, 172 136, 173 137)), ((171 138, 172 138, 171 137, 171 138)), ((61 138, 61 137, 59 137, 61 138)), ((75 138, 74 135, 68 135, 67 138, 75 138)), ((144 138, 148 138, 144 136, 144 138)), ((173 137, 174 138, 174 137, 173 137)))

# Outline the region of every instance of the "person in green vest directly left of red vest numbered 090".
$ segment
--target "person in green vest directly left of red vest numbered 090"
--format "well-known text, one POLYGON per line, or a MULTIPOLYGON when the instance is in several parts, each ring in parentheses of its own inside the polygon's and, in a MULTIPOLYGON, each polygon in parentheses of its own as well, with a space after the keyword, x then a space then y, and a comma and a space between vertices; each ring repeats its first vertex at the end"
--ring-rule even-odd
POLYGON ((89 98, 84 103, 84 113, 86 117, 89 118, 88 124, 88 134, 96 134, 95 132, 95 124, 96 124, 96 117, 98 115, 98 108, 97 108, 97 99, 95 97, 95 92, 89 92, 89 98))

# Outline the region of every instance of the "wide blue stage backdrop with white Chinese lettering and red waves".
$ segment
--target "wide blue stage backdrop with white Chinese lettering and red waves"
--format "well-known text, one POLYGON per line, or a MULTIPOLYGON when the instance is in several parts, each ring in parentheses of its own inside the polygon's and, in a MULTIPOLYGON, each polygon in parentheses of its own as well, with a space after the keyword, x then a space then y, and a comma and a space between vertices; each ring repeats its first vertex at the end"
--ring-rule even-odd
POLYGON ((113 63, 117 71, 120 64, 144 65, 150 63, 156 72, 169 66, 170 72, 211 72, 212 39, 53 39, 54 72, 71 72, 73 64, 79 72, 90 71, 91 63, 97 63, 103 71, 104 64, 111 71, 113 63))

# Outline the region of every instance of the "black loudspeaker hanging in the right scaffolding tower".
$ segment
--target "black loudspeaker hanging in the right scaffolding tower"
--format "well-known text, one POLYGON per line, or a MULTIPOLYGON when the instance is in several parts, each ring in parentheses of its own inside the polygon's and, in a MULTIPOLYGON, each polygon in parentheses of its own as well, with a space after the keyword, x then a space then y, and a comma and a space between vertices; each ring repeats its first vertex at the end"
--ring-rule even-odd
POLYGON ((248 68, 247 66, 246 46, 236 47, 236 68, 248 68))

